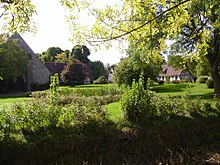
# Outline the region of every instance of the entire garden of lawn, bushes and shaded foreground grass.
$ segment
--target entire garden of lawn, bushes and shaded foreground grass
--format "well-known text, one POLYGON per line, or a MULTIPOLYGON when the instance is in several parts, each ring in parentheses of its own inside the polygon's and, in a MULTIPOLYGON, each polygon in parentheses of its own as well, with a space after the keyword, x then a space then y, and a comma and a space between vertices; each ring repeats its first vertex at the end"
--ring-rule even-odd
POLYGON ((220 104, 205 84, 59 87, 1 96, 2 164, 219 162, 220 104), (5 101, 9 99, 9 101, 5 101), (3 103, 3 105, 2 105, 3 103))

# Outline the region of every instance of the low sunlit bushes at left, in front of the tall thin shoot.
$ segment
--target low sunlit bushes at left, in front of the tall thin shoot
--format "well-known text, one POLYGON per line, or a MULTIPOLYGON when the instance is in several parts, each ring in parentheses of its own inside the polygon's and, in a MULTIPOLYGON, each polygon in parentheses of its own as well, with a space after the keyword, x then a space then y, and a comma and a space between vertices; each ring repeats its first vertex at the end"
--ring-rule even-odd
MULTIPOLYGON (((17 104, 0 113, 0 141, 10 139, 12 135, 24 136, 27 132, 34 133, 42 128, 78 127, 90 121, 100 124, 108 122, 101 104, 94 101, 87 103, 55 105, 48 100, 35 99, 26 104, 17 104)), ((90 131, 92 129, 94 128, 90 131)))

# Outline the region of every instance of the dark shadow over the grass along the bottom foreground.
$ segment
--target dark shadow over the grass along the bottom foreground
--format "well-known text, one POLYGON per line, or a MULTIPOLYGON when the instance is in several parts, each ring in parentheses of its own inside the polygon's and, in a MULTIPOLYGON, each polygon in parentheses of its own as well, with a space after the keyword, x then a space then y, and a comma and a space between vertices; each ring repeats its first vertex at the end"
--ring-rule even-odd
POLYGON ((29 149, 16 156, 9 152, 9 160, 0 163, 139 165, 207 164, 208 160, 216 163, 220 161, 219 127, 219 116, 199 116, 194 120, 174 117, 163 126, 118 129, 114 124, 92 121, 78 128, 41 128, 24 133, 32 144, 29 149))

